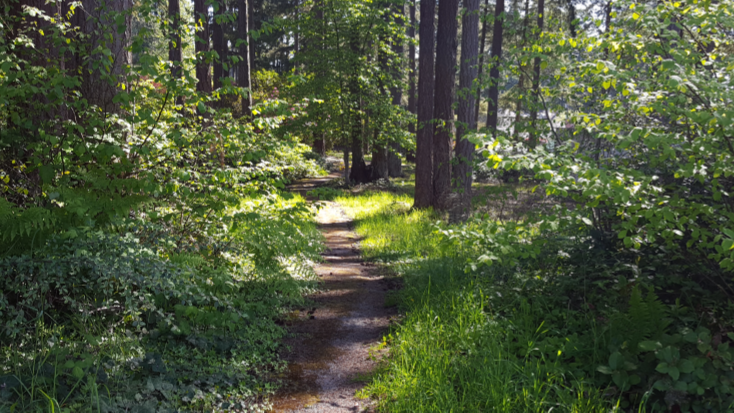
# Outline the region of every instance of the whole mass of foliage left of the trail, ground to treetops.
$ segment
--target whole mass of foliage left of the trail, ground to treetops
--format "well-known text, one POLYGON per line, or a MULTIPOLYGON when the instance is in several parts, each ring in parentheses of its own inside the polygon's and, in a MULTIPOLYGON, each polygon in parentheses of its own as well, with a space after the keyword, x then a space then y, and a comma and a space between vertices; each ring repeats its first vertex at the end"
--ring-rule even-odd
POLYGON ((265 410, 322 249, 280 195, 323 173, 281 128, 307 105, 233 113, 190 33, 174 75, 159 2, 123 3, 0 5, 0 410, 265 410))

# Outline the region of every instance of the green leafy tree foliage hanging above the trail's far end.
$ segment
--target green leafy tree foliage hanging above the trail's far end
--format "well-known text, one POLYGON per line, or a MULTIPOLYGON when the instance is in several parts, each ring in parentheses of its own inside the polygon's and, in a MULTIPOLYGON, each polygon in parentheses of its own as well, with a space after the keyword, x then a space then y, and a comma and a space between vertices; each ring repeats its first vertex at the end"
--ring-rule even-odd
POLYGON ((295 56, 301 68, 290 77, 288 94, 317 104, 310 105, 305 116, 290 126, 293 130, 342 145, 350 143, 355 130, 358 139, 373 145, 414 145, 404 127, 412 115, 393 105, 390 95, 392 88, 405 87, 400 67, 403 56, 391 49, 392 42, 405 41, 405 29, 394 16, 403 3, 302 3, 308 13, 296 24, 309 45, 295 56))

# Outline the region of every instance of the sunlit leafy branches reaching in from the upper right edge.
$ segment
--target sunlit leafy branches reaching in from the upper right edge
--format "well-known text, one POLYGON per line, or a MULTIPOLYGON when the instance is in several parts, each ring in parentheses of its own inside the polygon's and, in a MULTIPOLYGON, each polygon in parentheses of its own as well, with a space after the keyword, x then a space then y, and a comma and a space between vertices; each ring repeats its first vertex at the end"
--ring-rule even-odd
POLYGON ((558 88, 543 90, 548 100, 582 97, 572 111, 551 108, 573 128, 549 133, 548 152, 503 157, 509 141, 500 138, 485 153, 495 166, 534 170, 547 193, 584 207, 575 219, 613 230, 627 248, 663 245, 730 273, 734 212, 723 201, 734 174, 726 103, 734 99, 727 80, 734 60, 724 33, 734 28, 734 9, 619 6, 625 18, 608 36, 547 34, 544 51, 574 59, 557 68, 558 88))

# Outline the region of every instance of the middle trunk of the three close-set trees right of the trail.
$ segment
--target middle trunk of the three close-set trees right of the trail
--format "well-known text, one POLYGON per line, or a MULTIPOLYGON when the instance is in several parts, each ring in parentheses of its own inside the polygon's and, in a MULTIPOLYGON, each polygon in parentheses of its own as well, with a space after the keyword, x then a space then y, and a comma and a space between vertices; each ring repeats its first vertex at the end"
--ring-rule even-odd
POLYGON ((451 193, 451 138, 454 123, 454 82, 456 77, 456 35, 459 0, 438 4, 438 41, 436 43, 436 86, 433 96, 433 207, 445 211, 451 193))

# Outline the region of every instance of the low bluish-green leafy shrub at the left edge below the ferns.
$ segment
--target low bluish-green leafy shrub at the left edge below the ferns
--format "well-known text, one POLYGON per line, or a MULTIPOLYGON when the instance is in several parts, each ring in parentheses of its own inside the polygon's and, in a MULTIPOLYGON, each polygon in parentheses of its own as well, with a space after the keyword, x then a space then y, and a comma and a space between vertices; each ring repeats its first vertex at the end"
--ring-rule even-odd
POLYGON ((33 255, 0 261, 0 283, 2 334, 10 339, 30 333, 39 320, 76 314, 110 312, 138 322, 143 312, 158 310, 156 295, 181 302, 205 299, 188 271, 166 262, 131 233, 51 238, 33 255))

